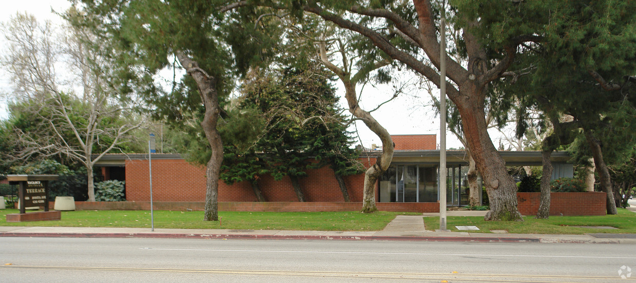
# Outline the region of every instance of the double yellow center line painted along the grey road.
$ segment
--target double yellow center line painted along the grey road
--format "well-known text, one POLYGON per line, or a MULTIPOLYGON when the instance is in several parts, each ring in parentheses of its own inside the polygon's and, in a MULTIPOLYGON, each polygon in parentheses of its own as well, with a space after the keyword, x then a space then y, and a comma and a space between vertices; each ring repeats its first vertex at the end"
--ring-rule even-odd
MULTIPOLYGON (((1 267, 0 267, 1 268, 1 267)), ((360 279, 394 279, 394 280, 452 280, 451 282, 522 282, 522 283, 589 283, 609 282, 609 280, 625 279, 619 277, 568 276, 568 275, 513 275, 513 274, 469 274, 469 273, 394 273, 394 272, 316 272, 296 270, 206 270, 178 268, 126 268, 126 267, 50 267, 10 265, 4 268, 51 269, 51 270, 92 270, 114 272, 167 272, 167 273, 207 273, 233 275, 272 275, 301 277, 346 277, 360 279), (572 281, 577 280, 577 281, 572 281)), ((627 280, 636 280, 628 278, 627 280)))

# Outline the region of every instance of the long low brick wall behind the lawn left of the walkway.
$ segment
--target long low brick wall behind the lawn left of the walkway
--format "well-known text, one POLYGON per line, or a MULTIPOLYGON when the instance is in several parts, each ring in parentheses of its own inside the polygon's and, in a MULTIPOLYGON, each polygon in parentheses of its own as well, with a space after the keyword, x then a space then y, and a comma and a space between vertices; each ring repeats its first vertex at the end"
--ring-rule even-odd
MULTIPOLYGON (((54 206, 50 202, 50 206, 54 206)), ((380 211, 435 213, 437 202, 378 202, 380 211)), ((153 209, 204 210, 204 202, 153 202, 153 209)), ((150 202, 75 202, 76 210, 149 210, 150 202)), ((359 211, 362 202, 219 202, 219 211, 359 211)))

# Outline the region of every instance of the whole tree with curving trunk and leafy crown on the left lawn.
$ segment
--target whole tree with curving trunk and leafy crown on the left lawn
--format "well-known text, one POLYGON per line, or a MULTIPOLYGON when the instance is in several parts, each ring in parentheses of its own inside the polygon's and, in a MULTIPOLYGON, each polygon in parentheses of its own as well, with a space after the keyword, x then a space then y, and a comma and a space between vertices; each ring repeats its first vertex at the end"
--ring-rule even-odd
MULTIPOLYGON (((78 3, 79 1, 76 1, 78 3)), ((268 56, 266 21, 245 1, 92 1, 78 23, 98 30, 117 63, 121 89, 137 91, 169 121, 200 123, 211 157, 206 167, 204 220, 218 220, 218 182, 223 140, 217 128, 233 77, 268 56), (250 24, 244 25, 243 23, 250 24), (254 24, 254 23, 257 24, 254 24), (155 77, 166 67, 183 68, 163 91, 155 77)), ((194 131, 194 130, 193 130, 194 131)))

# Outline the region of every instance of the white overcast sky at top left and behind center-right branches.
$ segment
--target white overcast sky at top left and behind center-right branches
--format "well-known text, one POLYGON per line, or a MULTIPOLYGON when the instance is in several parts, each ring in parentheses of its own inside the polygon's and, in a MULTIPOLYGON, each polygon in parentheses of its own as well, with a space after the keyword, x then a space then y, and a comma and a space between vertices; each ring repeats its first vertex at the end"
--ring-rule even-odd
MULTIPOLYGON (((38 20, 52 20, 53 22, 60 22, 59 16, 52 13, 55 11, 64 11, 70 4, 66 0, 18 0, 18 1, 3 1, 3 6, 0 9, 0 21, 7 22, 9 18, 15 15, 18 11, 27 11, 38 18, 38 20)), ((1 42, 1 41, 0 41, 1 42)), ((5 47, 0 44, 1 48, 5 47)), ((8 93, 9 82, 7 76, 3 71, 0 71, 0 91, 2 93, 8 93)), ((342 89, 342 88, 340 88, 342 89)), ((339 96, 344 96, 344 91, 338 90, 339 96)), ((439 96, 439 91, 437 96, 439 96)), ((385 88, 372 88, 366 86, 361 99, 361 105, 366 110, 375 109, 378 104, 385 102, 392 96, 392 89, 385 88)), ((425 104, 429 104, 429 95, 424 90, 418 90, 411 88, 407 94, 398 96, 395 100, 392 100, 385 105, 382 105, 380 109, 373 112, 373 116, 384 126, 391 135, 422 135, 422 134, 436 134, 438 136, 439 144, 439 117, 432 115, 431 107, 424 107, 425 104), (419 96, 420 98, 415 98, 419 96)), ((344 98, 340 101, 342 107, 346 107, 347 103, 344 98)), ((8 117, 6 110, 6 102, 0 102, 0 119, 6 119, 8 117)), ((357 130, 359 136, 365 147, 370 147, 372 143, 376 143, 378 146, 381 144, 380 139, 375 136, 362 122, 357 122, 357 130)), ((354 130, 355 128, 351 128, 354 130)), ((447 148, 461 147, 461 143, 455 139, 452 134, 448 133, 446 138, 447 148)), ((359 143, 359 142, 356 142, 359 143)), ((496 143, 495 143, 496 144, 496 143)))

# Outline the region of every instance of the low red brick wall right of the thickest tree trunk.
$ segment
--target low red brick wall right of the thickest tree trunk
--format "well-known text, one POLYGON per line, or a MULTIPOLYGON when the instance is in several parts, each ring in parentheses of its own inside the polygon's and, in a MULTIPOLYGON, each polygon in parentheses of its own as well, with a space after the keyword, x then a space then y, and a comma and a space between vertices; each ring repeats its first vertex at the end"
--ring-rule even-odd
MULTIPOLYGON (((541 193, 517 193, 519 212, 522 215, 536 215, 539 210, 541 193)), ((594 216, 605 215, 604 192, 551 193, 550 215, 553 216, 594 216)))

